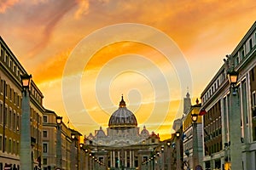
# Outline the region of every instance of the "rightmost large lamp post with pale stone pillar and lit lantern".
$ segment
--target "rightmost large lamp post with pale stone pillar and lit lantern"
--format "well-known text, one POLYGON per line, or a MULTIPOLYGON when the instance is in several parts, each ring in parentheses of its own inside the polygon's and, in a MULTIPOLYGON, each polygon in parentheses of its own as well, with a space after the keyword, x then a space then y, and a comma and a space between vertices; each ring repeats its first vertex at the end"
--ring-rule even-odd
POLYGON ((228 71, 230 81, 230 163, 232 170, 242 169, 241 160, 241 110, 237 91, 238 72, 228 71))

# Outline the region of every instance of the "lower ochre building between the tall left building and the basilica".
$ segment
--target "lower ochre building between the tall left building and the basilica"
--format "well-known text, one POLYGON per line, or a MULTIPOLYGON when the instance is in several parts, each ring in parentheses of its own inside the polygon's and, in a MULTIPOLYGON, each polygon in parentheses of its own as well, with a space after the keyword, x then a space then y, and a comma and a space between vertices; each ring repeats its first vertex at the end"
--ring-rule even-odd
POLYGON ((44 111, 42 167, 44 170, 53 170, 59 166, 63 170, 78 169, 82 167, 79 146, 81 134, 67 127, 62 121, 58 125, 56 120, 58 117, 55 111, 44 111), (60 165, 57 165, 58 161, 61 161, 60 165))

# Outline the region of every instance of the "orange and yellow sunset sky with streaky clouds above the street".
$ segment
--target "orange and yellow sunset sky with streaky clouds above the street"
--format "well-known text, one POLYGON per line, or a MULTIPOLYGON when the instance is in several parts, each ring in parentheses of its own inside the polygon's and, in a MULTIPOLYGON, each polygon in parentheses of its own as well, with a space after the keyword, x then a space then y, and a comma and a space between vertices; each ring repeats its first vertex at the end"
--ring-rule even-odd
POLYGON ((70 127, 106 129, 123 95, 167 139, 255 16, 253 0, 0 0, 0 36, 70 127))

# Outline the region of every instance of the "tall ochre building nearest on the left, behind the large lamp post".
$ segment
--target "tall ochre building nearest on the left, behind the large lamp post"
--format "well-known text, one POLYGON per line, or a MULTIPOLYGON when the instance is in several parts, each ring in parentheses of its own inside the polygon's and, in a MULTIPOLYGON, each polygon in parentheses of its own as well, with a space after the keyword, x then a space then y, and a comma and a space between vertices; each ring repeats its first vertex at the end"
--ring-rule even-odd
MULTIPOLYGON (((26 70, 0 37, 0 170, 20 168, 20 120, 22 86, 20 75, 26 70)), ((37 85, 30 86, 32 163, 40 167, 42 156, 43 94, 37 85)))

